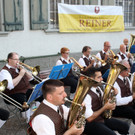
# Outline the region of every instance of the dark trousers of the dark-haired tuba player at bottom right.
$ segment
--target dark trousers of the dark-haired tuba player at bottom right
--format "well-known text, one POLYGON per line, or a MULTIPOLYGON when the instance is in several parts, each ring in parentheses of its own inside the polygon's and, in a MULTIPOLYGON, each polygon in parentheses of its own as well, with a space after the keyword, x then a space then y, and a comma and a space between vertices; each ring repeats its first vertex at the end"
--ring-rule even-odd
POLYGON ((103 122, 87 122, 84 133, 86 135, 116 135, 114 132, 118 131, 120 134, 128 134, 129 125, 126 122, 116 119, 106 119, 103 122))

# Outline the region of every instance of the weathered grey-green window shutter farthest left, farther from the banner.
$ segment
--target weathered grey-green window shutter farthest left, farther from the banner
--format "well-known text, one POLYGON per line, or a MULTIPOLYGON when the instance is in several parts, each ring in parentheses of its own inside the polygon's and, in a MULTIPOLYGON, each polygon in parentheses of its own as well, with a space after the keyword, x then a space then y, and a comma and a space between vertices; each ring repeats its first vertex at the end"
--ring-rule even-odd
POLYGON ((23 0, 3 0, 5 31, 23 30, 23 0))

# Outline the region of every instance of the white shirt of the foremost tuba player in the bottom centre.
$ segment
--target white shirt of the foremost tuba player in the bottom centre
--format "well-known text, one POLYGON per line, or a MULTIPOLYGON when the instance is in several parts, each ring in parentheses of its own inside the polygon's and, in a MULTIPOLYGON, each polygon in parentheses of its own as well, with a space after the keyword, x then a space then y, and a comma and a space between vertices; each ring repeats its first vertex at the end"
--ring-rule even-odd
MULTIPOLYGON (((58 106, 49 103, 47 100, 43 100, 43 103, 57 111, 58 106)), ((64 111, 64 119, 67 119, 69 108, 62 105, 64 111)), ((37 135, 56 135, 55 125, 53 121, 44 114, 39 114, 32 120, 32 128, 37 135)))

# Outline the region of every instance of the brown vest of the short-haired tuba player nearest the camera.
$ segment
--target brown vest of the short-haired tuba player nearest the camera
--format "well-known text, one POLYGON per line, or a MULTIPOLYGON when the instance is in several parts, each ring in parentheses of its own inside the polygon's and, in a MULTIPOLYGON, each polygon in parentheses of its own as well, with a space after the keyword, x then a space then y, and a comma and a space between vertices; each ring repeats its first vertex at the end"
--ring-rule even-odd
MULTIPOLYGON (((33 120, 34 117, 36 117, 39 114, 44 114, 44 115, 48 116, 53 121, 53 123, 55 125, 56 135, 63 135, 65 132, 65 126, 64 126, 62 106, 60 106, 60 111, 61 111, 62 117, 58 114, 58 112, 56 112, 51 107, 45 105, 42 102, 40 104, 40 106, 38 107, 38 110, 35 111, 35 113, 31 116, 30 125, 31 125, 31 121, 33 120)), ((34 132, 32 127, 29 128, 29 135, 36 135, 36 133, 34 132)))

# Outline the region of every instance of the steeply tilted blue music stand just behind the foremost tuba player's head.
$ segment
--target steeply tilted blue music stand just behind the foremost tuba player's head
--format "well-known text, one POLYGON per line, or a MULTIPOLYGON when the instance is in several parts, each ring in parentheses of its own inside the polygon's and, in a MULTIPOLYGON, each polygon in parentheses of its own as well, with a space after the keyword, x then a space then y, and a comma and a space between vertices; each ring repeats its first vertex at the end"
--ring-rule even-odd
POLYGON ((40 96, 42 96, 42 85, 43 83, 48 80, 49 78, 45 79, 43 82, 35 85, 35 88, 34 90, 32 91, 28 101, 27 101, 27 104, 30 104, 32 103, 34 100, 36 100, 37 98, 39 98, 40 96))

